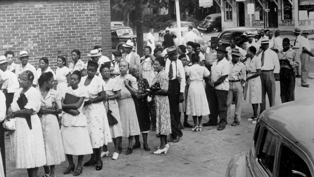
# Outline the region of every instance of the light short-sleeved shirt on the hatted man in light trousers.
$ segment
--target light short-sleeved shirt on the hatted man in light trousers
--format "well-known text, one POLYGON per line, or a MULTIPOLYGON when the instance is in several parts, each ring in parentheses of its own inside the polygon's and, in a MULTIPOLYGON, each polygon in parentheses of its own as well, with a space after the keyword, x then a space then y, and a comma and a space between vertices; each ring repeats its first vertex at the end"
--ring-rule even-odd
POLYGON ((229 80, 232 81, 241 81, 242 79, 246 80, 246 71, 245 66, 242 62, 237 62, 233 65, 232 61, 230 63, 230 72, 228 75, 229 80))

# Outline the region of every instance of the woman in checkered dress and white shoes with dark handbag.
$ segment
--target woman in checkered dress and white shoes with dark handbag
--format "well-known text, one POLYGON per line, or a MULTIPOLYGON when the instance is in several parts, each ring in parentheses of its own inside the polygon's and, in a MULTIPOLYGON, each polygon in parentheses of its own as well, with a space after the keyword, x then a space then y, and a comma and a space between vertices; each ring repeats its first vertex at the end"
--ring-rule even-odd
MULTIPOLYGON (((110 67, 102 64, 100 67, 100 74, 102 76, 102 79, 105 81, 104 85, 104 91, 106 91, 106 97, 107 101, 104 101, 104 105, 106 108, 106 111, 108 112, 108 104, 109 104, 109 110, 112 111, 111 115, 113 115, 118 123, 113 126, 109 126, 111 137, 113 138, 113 142, 115 145, 115 151, 112 155, 112 159, 117 159, 118 154, 121 153, 122 147, 119 147, 121 145, 122 141, 122 126, 121 126, 121 120, 120 120, 120 114, 119 114, 119 107, 116 99, 121 97, 120 93, 120 86, 116 82, 116 80, 110 78, 110 67)), ((103 152, 102 156, 108 155, 108 149, 107 145, 103 146, 103 152)))

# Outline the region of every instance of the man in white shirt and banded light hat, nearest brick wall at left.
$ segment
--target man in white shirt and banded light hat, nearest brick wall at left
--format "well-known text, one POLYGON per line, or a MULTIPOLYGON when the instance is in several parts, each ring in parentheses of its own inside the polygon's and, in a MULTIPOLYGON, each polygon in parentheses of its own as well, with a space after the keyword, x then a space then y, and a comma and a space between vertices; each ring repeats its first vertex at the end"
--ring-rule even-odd
POLYGON ((32 86, 36 87, 37 86, 36 69, 33 65, 31 65, 28 62, 28 57, 29 57, 29 55, 28 55, 27 51, 21 51, 20 52, 19 59, 22 62, 22 66, 19 68, 19 72, 17 74, 20 75, 23 71, 31 71, 34 74, 34 80, 33 80, 32 86))

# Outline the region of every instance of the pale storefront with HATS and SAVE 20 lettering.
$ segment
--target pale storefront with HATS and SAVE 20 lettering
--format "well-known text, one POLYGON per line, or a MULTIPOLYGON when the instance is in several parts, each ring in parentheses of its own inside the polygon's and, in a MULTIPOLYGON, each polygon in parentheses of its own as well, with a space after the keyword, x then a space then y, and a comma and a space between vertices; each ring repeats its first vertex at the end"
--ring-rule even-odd
POLYGON ((314 0, 220 0, 222 29, 237 26, 292 31, 295 27, 314 29, 314 0), (248 3, 254 14, 247 13, 248 3), (252 22, 251 22, 252 20, 252 22))

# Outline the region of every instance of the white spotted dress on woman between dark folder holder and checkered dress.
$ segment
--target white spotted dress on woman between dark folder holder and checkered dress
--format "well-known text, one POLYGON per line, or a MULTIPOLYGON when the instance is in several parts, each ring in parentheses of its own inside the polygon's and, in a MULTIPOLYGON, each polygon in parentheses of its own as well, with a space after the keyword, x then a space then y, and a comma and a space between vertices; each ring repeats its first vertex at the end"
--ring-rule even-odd
MULTIPOLYGON (((82 77, 81 85, 84 85, 87 77, 88 76, 82 77)), ((99 96, 98 93, 104 90, 103 83, 104 81, 100 77, 94 76, 89 85, 86 86, 89 98, 93 99, 99 96)), ((83 114, 86 115, 87 118, 87 129, 92 147, 99 148, 111 142, 107 112, 103 102, 84 106, 83 114)))

